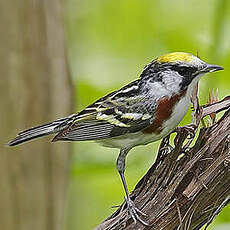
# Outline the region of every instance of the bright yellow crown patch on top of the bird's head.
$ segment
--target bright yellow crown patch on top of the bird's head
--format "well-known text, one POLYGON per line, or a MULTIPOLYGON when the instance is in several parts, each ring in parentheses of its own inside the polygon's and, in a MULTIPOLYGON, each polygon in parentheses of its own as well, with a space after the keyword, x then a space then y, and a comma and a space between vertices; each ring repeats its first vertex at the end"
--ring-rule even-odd
POLYGON ((174 52, 158 57, 156 60, 160 63, 166 62, 191 62, 194 56, 183 52, 174 52))

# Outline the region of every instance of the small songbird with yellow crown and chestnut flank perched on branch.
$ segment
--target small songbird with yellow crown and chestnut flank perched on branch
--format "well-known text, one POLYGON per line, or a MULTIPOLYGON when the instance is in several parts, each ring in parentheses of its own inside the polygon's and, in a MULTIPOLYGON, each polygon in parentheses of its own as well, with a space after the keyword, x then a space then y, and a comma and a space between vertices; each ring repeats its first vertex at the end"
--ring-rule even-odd
POLYGON ((116 168, 125 192, 127 213, 148 225, 131 200, 126 179, 126 156, 135 146, 155 142, 170 134, 185 116, 193 88, 210 72, 223 70, 185 52, 172 52, 147 64, 140 77, 101 97, 82 111, 18 133, 8 143, 15 146, 41 136, 56 134, 56 141, 94 140, 119 149, 116 168))

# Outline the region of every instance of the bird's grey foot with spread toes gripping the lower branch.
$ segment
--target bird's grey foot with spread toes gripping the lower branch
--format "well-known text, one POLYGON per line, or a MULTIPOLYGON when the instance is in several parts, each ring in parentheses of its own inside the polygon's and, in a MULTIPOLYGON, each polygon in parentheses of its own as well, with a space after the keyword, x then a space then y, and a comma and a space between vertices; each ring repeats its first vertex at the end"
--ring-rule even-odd
POLYGON ((128 212, 129 212, 130 216, 132 217, 134 223, 136 224, 137 221, 139 221, 143 225, 149 226, 149 224, 146 223, 144 220, 142 220, 141 217, 139 216, 139 214, 141 214, 142 216, 147 216, 147 215, 144 212, 142 212, 140 209, 135 207, 134 202, 129 197, 125 198, 125 202, 127 204, 128 212))

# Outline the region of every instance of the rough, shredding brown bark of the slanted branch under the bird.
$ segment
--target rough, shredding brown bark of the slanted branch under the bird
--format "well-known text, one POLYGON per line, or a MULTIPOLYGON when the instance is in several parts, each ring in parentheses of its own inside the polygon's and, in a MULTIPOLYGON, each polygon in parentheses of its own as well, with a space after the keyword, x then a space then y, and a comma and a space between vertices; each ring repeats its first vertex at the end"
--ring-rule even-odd
POLYGON ((230 202, 230 97, 200 107, 195 93, 193 105, 194 123, 177 129, 174 147, 169 136, 163 139, 156 162, 131 194, 150 226, 135 225, 123 203, 97 230, 200 229, 230 202), (197 131, 207 115, 208 127, 197 131))

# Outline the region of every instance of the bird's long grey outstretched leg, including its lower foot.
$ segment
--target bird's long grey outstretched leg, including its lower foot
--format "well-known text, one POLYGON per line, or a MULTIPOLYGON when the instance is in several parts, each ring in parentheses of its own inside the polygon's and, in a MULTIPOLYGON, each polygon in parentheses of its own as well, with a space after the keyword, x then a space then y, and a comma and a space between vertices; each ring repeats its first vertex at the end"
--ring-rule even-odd
POLYGON ((125 197, 125 202, 127 204, 127 209, 128 209, 128 212, 129 214, 131 215, 132 219, 134 220, 134 223, 136 224, 137 220, 140 221, 143 225, 146 225, 148 226, 149 224, 147 224, 145 221, 143 221, 138 213, 146 216, 145 213, 143 213, 142 211, 140 211, 138 208, 135 207, 135 204, 134 202, 131 200, 130 196, 129 196, 129 191, 128 191, 128 188, 127 188, 127 184, 126 184, 126 181, 125 181, 125 160, 126 160, 126 156, 129 152, 129 149, 121 149, 120 151, 120 154, 117 158, 117 170, 120 174, 120 177, 121 177, 121 181, 122 181, 122 184, 123 184, 123 187, 124 187, 124 190, 125 190, 125 194, 126 194, 126 197, 125 197))

